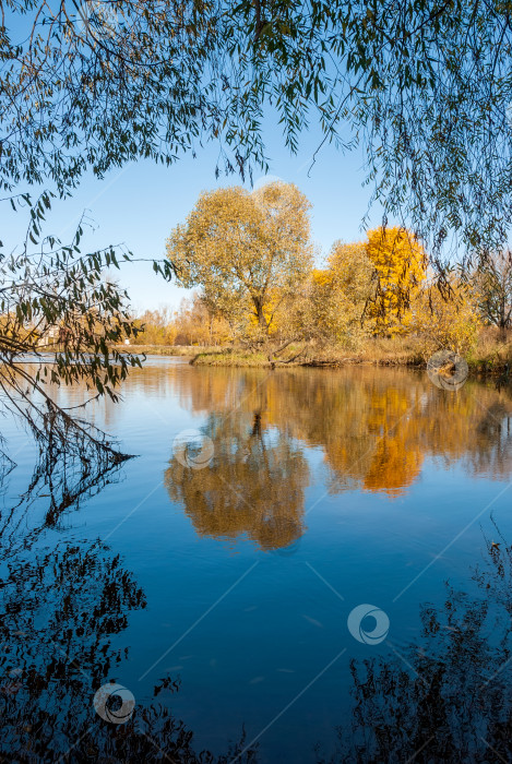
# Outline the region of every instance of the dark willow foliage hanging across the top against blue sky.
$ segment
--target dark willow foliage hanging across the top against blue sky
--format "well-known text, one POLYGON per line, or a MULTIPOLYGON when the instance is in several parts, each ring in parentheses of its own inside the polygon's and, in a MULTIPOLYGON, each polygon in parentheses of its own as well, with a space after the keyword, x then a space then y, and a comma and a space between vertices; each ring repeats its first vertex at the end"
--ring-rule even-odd
POLYGON ((0 187, 66 193, 88 170, 170 165, 209 140, 223 169, 250 177, 267 166, 271 104, 293 151, 311 119, 325 140, 358 139, 374 199, 436 254, 450 230, 468 252, 491 250, 512 220, 511 46, 502 2, 12 0, 0 187))

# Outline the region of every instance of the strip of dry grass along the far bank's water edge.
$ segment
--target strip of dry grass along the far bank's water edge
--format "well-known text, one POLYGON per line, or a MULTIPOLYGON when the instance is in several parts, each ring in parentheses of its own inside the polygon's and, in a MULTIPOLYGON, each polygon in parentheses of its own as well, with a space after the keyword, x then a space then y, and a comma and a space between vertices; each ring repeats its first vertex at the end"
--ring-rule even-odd
MULTIPOLYGON (((117 346, 122 351, 126 346, 117 346)), ((418 337, 372 337, 357 351, 344 347, 290 344, 279 358, 264 350, 247 349, 234 345, 133 345, 130 353, 146 356, 176 356, 188 359, 192 366, 237 368, 336 368, 343 366, 401 366, 426 369, 428 358, 418 337)), ((475 347, 461 354, 467 361, 472 375, 505 375, 512 368, 512 331, 503 335, 492 327, 484 330, 475 347)))

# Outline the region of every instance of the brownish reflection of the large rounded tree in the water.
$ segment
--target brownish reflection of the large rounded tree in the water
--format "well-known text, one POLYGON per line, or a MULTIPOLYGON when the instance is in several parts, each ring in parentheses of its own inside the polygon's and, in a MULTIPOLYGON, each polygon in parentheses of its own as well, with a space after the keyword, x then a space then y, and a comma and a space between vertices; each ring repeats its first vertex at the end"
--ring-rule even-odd
POLYGON ((175 455, 165 473, 170 498, 183 503, 195 530, 229 540, 246 534, 265 551, 300 538, 309 482, 302 449, 263 426, 259 409, 211 414, 203 431, 214 445, 210 464, 194 470, 175 455))

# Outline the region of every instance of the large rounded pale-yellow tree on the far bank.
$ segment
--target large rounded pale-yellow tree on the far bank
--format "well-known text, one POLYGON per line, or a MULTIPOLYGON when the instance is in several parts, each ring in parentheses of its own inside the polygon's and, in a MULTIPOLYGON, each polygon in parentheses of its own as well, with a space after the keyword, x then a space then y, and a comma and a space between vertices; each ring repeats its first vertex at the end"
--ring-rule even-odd
POLYGON ((201 194, 167 240, 178 283, 201 286, 225 315, 252 313, 265 337, 312 263, 310 203, 291 183, 201 194))

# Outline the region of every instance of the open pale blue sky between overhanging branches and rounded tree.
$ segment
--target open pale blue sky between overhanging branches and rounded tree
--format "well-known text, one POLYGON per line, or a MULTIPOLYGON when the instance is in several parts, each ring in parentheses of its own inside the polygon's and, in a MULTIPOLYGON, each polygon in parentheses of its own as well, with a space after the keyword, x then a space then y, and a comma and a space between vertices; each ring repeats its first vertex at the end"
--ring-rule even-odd
MULTIPOLYGON (((269 175, 296 183, 311 201, 312 237, 319 250, 326 254, 335 239, 361 238, 361 220, 372 190, 362 187, 361 154, 344 155, 326 144, 310 169, 312 153, 322 140, 319 131, 302 135, 296 156, 285 148, 278 130, 269 129, 269 175)), ((82 251, 124 243, 136 256, 162 258, 171 228, 184 220, 202 190, 241 182, 237 176, 215 178, 217 156, 218 146, 211 144, 199 151, 195 159, 184 157, 170 168, 141 160, 109 172, 104 180, 85 177, 71 199, 55 200, 45 230, 67 243, 80 215, 87 210, 95 230, 82 241, 82 251)), ((254 182, 264 180, 257 174, 254 182)), ((26 217, 21 213, 8 217, 2 222, 2 239, 10 249, 20 241, 26 217)), ((378 208, 371 211, 370 223, 379 225, 378 208)), ((184 289, 155 276, 151 263, 123 265, 119 280, 138 312, 162 306, 177 308, 187 295, 184 289)))

